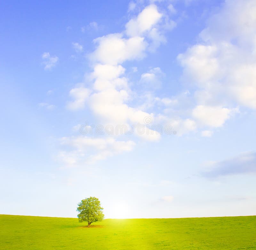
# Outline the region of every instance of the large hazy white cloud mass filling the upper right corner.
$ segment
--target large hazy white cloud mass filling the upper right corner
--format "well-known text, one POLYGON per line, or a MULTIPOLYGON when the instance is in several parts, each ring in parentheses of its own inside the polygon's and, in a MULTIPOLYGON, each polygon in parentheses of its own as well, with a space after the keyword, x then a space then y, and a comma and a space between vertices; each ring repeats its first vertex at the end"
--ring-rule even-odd
POLYGON ((255 12, 254 0, 225 1, 200 33, 201 42, 178 56, 184 78, 198 87, 199 104, 256 108, 255 12))

